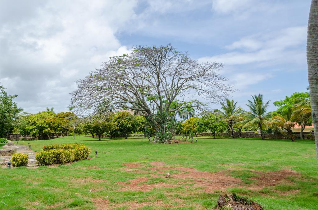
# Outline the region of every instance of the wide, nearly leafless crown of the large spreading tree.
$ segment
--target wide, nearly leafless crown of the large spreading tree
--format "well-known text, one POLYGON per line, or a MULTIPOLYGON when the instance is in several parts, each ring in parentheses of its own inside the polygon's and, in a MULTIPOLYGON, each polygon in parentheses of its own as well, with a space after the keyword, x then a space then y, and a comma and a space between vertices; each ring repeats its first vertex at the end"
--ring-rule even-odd
MULTIPOLYGON (((94 115, 97 107, 104 115, 127 108, 150 118, 157 113, 174 118, 189 104, 205 110, 233 91, 218 73, 222 67, 217 62, 199 63, 170 44, 136 46, 130 54, 111 57, 100 69, 79 80, 78 89, 72 93, 71 109, 85 116, 94 115)), ((156 135, 169 130, 164 126, 154 128, 156 135)))

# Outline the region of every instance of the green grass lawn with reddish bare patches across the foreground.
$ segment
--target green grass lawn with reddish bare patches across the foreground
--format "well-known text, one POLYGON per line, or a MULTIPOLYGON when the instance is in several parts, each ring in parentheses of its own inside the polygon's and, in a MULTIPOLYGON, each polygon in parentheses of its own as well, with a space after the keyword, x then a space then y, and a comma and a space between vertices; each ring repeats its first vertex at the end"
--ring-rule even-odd
POLYGON ((199 137, 197 143, 168 145, 150 144, 143 138, 97 141, 68 136, 19 144, 28 142, 35 151, 54 143, 83 143, 91 148, 92 159, 1 168, 0 209, 211 209, 225 192, 247 195, 264 209, 318 209, 314 141, 199 137), (166 172, 170 178, 164 178, 166 172), (210 180, 209 191, 204 185, 209 174, 228 178, 229 187, 225 183, 224 189, 217 189, 218 182, 210 180), (273 179, 277 185, 266 186, 273 179), (238 186, 233 187, 235 182, 238 186))

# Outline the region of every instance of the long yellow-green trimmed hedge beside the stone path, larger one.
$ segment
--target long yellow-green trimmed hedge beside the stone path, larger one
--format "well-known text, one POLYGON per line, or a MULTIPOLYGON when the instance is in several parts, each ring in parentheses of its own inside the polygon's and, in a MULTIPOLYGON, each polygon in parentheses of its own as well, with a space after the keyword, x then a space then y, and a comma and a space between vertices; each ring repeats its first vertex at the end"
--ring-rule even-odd
POLYGON ((90 148, 84 144, 54 144, 44 146, 43 150, 35 155, 35 159, 39 166, 64 164, 87 159, 90 153, 90 148))

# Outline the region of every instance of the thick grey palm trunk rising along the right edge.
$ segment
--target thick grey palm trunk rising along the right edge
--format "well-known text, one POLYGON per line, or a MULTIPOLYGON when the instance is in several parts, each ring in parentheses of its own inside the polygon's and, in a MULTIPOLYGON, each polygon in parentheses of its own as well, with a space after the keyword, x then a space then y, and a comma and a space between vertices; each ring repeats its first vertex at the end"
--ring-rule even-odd
POLYGON ((311 115, 314 124, 315 145, 318 161, 318 0, 312 0, 308 20, 307 63, 311 101, 311 115))

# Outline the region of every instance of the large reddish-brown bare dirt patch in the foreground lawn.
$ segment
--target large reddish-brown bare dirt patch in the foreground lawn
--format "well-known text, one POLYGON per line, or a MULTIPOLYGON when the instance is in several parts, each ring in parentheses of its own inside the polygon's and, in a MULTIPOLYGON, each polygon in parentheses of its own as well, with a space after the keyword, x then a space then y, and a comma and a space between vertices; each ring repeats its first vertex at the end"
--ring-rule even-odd
MULTIPOLYGON (((176 167, 166 165, 162 161, 152 161, 150 162, 151 167, 147 167, 152 171, 138 170, 138 167, 143 167, 141 164, 136 163, 127 163, 123 164, 127 166, 127 171, 136 172, 136 173, 149 173, 155 172, 152 174, 152 177, 165 177, 165 174, 168 171, 177 171, 176 173, 170 173, 170 178, 175 180, 177 179, 180 184, 184 183, 192 183, 192 187, 200 187, 203 192, 211 193, 216 190, 225 191, 227 188, 232 187, 246 187, 251 190, 260 190, 264 187, 275 186, 280 183, 290 182, 287 179, 289 176, 297 176, 299 173, 294 172, 290 169, 281 169, 280 171, 270 171, 270 172, 259 172, 252 171, 254 173, 259 174, 259 176, 251 177, 250 179, 255 180, 255 183, 245 184, 239 178, 234 178, 230 176, 229 172, 204 172, 198 171, 195 168, 191 167, 176 167)), ((149 177, 141 177, 134 180, 128 180, 128 184, 125 182, 118 182, 118 184, 122 184, 124 187, 120 190, 141 190, 141 191, 149 191, 155 187, 177 187, 176 184, 169 183, 156 183, 156 184, 145 184, 145 182, 149 179, 149 177)))

